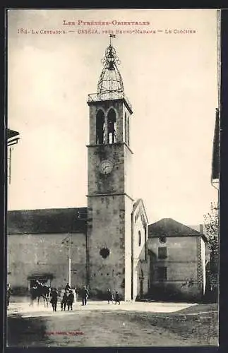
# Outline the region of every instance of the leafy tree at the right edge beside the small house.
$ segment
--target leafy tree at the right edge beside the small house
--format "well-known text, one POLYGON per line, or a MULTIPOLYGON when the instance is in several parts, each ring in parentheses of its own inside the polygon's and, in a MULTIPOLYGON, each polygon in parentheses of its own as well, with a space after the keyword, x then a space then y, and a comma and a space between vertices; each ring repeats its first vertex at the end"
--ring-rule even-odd
POLYGON ((207 266, 207 283, 210 291, 217 293, 219 285, 219 208, 215 203, 210 205, 210 213, 204 216, 204 226, 208 247, 210 249, 210 262, 207 266))

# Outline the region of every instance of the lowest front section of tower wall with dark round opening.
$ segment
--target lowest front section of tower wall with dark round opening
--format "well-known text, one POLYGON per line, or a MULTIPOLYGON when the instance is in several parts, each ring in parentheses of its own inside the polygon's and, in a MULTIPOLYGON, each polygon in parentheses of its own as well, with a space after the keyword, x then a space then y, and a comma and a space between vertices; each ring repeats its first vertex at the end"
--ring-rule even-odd
POLYGON ((92 215, 88 223, 90 291, 95 295, 106 293, 107 288, 124 295, 125 198, 124 195, 88 198, 92 215), (100 255, 103 248, 109 249, 107 258, 100 255))

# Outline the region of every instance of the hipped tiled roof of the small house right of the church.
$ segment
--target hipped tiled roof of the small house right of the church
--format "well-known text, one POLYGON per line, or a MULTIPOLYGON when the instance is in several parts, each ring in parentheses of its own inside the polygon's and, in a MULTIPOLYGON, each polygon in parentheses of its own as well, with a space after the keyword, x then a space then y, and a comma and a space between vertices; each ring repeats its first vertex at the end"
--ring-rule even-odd
POLYGON ((182 223, 172 220, 172 218, 163 218, 149 225, 148 237, 203 237, 205 241, 207 240, 205 235, 186 225, 182 225, 182 223))

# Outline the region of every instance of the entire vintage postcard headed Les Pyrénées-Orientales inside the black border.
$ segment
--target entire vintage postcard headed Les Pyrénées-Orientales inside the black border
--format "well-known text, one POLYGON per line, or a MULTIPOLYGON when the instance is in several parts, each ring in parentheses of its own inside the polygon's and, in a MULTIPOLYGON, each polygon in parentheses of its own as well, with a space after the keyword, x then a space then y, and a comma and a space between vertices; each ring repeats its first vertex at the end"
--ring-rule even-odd
POLYGON ((6 345, 217 346, 220 11, 6 16, 6 345))

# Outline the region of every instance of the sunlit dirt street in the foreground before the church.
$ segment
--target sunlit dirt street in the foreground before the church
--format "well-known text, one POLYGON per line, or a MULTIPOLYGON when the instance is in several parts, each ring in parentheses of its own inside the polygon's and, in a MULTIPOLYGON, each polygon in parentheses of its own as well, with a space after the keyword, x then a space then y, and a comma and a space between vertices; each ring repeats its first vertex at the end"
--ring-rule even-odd
POLYGON ((73 311, 60 311, 58 307, 52 312, 43 305, 31 308, 26 303, 12 303, 8 309, 8 346, 217 345, 216 318, 209 322, 212 316, 208 314, 206 320, 200 316, 200 322, 199 316, 193 316, 194 307, 183 303, 90 302, 86 307, 76 304, 73 311), (186 310, 192 313, 183 314, 186 310))

